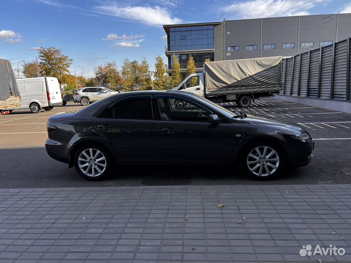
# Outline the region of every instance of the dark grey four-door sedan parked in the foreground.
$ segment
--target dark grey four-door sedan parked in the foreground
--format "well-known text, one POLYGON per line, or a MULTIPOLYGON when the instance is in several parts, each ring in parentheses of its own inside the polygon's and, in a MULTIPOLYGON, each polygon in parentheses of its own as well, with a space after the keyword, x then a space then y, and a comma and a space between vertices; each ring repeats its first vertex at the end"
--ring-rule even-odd
POLYGON ((122 163, 233 165, 255 179, 311 161, 304 128, 231 112, 195 94, 170 91, 109 96, 47 123, 47 153, 88 180, 122 163), (186 107, 176 108, 174 101, 186 107))

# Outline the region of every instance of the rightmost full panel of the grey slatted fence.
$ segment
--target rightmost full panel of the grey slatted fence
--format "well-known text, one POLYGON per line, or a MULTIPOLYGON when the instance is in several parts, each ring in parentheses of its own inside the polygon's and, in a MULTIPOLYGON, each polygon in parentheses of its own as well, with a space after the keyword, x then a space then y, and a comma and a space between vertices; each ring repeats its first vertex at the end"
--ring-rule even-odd
POLYGON ((347 41, 335 43, 333 99, 346 100, 347 41))

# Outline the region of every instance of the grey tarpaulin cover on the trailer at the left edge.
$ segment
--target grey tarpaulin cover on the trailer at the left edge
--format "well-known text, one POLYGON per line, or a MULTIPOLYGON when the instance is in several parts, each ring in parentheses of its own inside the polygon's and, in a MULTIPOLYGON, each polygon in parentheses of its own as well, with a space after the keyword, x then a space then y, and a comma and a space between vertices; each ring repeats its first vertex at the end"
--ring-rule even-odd
POLYGON ((0 100, 6 100, 10 96, 20 95, 11 63, 0 59, 0 100))

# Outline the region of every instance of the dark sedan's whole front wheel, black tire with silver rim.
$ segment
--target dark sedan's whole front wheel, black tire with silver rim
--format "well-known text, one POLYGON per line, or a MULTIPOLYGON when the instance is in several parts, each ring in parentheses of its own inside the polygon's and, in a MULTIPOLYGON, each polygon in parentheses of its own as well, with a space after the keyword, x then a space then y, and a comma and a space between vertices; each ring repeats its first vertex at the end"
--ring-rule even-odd
POLYGON ((240 164, 243 172, 253 179, 271 180, 284 170, 285 152, 276 143, 255 141, 241 151, 240 164))

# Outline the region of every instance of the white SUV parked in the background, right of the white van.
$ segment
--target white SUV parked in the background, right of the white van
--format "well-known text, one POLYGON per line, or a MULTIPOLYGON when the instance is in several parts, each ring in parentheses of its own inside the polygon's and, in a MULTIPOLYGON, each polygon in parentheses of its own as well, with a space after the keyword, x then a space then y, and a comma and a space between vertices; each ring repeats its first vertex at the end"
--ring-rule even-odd
POLYGON ((77 102, 80 102, 81 105, 87 106, 91 102, 98 101, 117 93, 119 92, 110 90, 106 87, 86 87, 84 89, 79 89, 75 93, 75 97, 77 102))

